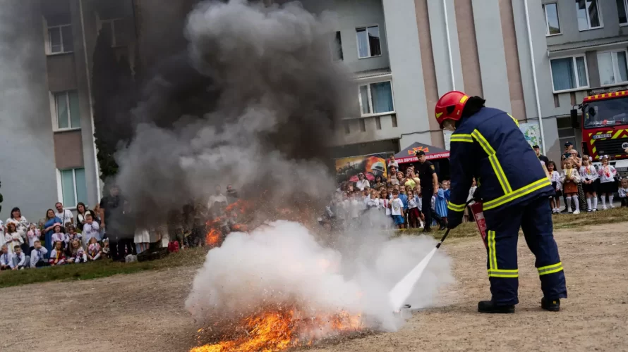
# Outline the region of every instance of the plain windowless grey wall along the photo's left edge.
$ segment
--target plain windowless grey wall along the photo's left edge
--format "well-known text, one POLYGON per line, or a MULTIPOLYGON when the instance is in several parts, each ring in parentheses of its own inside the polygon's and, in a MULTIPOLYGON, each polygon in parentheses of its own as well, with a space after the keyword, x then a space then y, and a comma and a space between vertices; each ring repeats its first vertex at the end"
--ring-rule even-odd
POLYGON ((35 1, 0 1, 3 221, 17 206, 36 222, 57 200, 42 17, 35 5, 35 1))

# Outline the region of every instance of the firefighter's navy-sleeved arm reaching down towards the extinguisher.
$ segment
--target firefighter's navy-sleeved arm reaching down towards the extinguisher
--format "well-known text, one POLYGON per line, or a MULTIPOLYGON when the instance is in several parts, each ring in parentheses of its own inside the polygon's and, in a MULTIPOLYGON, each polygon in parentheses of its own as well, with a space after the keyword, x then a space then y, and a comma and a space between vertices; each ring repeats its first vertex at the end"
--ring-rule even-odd
POLYGON ((470 134, 452 134, 449 153, 449 169, 452 174, 452 187, 447 204, 448 227, 453 229, 462 222, 462 215, 469 189, 473 183, 473 139, 470 134))

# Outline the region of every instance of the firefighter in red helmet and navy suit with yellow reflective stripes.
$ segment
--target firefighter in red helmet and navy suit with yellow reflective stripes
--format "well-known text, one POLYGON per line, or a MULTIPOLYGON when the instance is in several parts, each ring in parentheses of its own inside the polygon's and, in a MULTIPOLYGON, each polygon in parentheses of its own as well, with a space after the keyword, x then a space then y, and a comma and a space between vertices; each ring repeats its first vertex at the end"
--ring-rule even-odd
POLYGON ((523 228, 536 256, 541 279, 541 308, 560 310, 567 298, 562 263, 552 234, 548 197, 552 185, 536 153, 509 113, 484 106, 479 96, 448 92, 436 103, 436 119, 451 136, 452 193, 447 206, 448 227, 462 221, 473 177, 476 199, 483 203, 487 225, 490 301, 478 303, 481 313, 514 313, 519 303, 517 239, 523 228))

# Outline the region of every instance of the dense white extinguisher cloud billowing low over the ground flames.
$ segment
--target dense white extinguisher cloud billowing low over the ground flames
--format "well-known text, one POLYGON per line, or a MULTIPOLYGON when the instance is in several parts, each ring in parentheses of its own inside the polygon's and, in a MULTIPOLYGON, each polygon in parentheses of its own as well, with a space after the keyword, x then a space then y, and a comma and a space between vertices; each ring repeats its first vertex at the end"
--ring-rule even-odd
MULTIPOLYGON (((384 215, 371 219, 387 220, 384 215)), ((398 329, 403 321, 393 314, 388 291, 433 249, 435 240, 389 239, 377 227, 366 226, 344 235, 346 246, 329 249, 296 222, 277 221, 250 234, 230 234, 207 253, 186 308, 202 325, 212 322, 217 327, 283 307, 306 317, 342 310, 361 315, 365 327, 398 329)), ((452 281, 449 258, 437 252, 407 303, 428 306, 437 290, 452 281)))

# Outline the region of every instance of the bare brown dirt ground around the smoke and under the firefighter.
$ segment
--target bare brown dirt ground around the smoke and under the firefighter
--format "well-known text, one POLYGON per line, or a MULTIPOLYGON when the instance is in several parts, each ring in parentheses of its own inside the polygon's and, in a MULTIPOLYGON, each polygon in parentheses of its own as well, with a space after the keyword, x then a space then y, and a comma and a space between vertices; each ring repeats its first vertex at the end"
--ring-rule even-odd
MULTIPOLYGON (((519 241, 519 305, 483 315, 489 298, 477 238, 447 240, 457 283, 436 308, 399 332, 305 348, 327 351, 628 351, 628 223, 555 234, 569 299, 560 313, 540 308, 534 258, 519 241)), ((188 351, 195 324, 183 309, 195 270, 181 268, 85 282, 0 289, 0 351, 188 351)))

